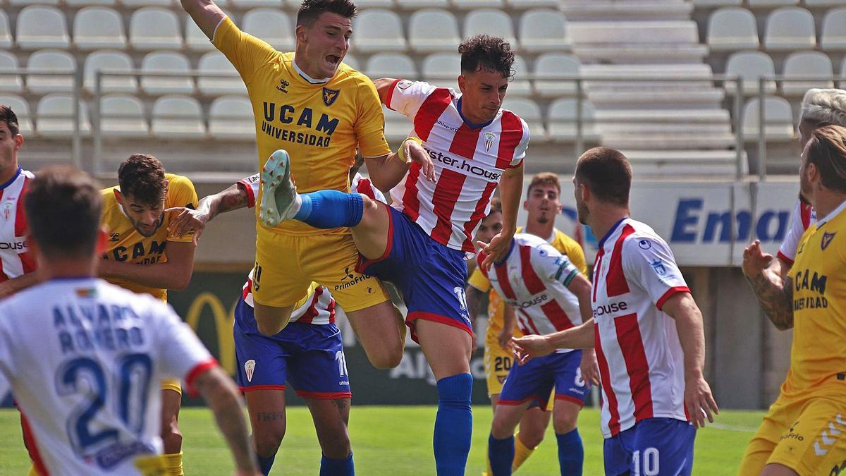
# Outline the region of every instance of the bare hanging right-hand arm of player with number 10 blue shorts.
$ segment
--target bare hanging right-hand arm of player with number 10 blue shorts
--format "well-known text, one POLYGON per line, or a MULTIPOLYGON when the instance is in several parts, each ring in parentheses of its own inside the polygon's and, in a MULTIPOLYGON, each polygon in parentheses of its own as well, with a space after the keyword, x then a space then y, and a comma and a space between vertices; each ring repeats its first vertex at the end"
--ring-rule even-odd
POLYGON ((684 406, 696 428, 705 426, 705 419, 714 423, 714 416, 720 412, 711 386, 702 374, 705 368, 705 331, 702 329, 702 313, 693 296, 677 292, 664 302, 661 310, 676 321, 678 340, 684 351, 684 406))

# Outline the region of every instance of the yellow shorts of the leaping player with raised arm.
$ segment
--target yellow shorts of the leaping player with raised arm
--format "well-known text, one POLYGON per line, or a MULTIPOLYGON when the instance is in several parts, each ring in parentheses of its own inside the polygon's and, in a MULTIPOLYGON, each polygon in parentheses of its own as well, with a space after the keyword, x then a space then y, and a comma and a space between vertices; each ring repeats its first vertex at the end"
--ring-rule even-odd
POLYGON ((265 306, 292 306, 315 281, 348 313, 386 302, 382 282, 355 271, 358 260, 353 237, 346 233, 292 236, 258 227, 253 299, 265 306))

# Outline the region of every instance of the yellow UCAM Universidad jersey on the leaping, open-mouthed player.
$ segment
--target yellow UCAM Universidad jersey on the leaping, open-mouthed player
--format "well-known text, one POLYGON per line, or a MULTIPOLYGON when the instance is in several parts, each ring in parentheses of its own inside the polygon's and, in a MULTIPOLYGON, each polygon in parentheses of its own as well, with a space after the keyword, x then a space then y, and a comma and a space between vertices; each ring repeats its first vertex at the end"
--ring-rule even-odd
MULTIPOLYGON (((385 140, 382 103, 367 76, 342 63, 329 80, 311 79, 294 64, 294 53, 278 52, 239 30, 228 18, 217 25, 212 43, 247 86, 259 169, 272 152, 285 149, 300 193, 349 191, 356 148, 365 158, 391 152, 385 140)), ((328 231, 294 220, 273 230, 286 235, 326 235, 328 231)))

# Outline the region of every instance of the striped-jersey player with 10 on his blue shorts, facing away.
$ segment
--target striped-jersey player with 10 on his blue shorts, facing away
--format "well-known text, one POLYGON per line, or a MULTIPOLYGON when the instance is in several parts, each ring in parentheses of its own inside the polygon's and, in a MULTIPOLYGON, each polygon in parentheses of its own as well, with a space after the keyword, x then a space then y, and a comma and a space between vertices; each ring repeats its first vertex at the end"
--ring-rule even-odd
POLYGON ((702 314, 667 243, 630 218, 631 180, 629 159, 615 149, 595 147, 579 158, 573 179, 579 221, 602 236, 594 318, 514 341, 527 357, 596 346, 606 474, 660 467, 662 474, 689 475, 695 428, 718 411, 702 374, 702 314))

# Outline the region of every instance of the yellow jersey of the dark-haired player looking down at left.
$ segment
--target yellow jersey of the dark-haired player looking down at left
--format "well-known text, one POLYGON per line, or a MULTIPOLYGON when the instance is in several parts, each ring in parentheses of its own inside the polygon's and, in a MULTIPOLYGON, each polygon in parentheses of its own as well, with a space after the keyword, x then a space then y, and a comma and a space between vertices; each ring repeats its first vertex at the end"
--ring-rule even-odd
MULTIPOLYGON (((194 184, 188 177, 176 174, 164 174, 168 180, 168 196, 165 197, 164 208, 171 207, 197 207, 197 192, 194 184)), ((106 252, 103 259, 111 259, 119 263, 135 263, 140 266, 147 264, 165 263, 168 261, 166 246, 168 241, 192 241, 194 234, 186 234, 182 237, 169 236, 168 224, 170 224, 170 213, 164 213, 162 223, 152 236, 141 235, 135 226, 129 222, 124 208, 118 203, 114 196, 117 186, 109 187, 102 191, 103 209, 100 217, 100 224, 108 233, 106 252)), ((168 290, 152 288, 139 285, 133 281, 108 278, 107 281, 118 285, 129 291, 147 293, 156 296, 158 299, 167 302, 168 290)))

